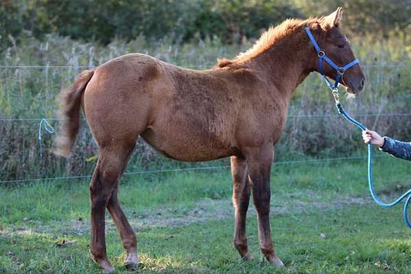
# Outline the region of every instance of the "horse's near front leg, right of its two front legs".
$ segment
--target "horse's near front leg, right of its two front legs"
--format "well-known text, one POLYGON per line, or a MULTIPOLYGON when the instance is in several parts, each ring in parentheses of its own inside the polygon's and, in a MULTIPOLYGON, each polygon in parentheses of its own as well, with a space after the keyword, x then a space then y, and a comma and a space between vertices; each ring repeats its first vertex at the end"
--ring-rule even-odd
POLYGON ((273 145, 251 149, 247 157, 249 180, 253 192, 253 202, 258 217, 258 242, 265 258, 275 266, 284 266, 274 252, 270 229, 270 172, 273 162, 273 145))

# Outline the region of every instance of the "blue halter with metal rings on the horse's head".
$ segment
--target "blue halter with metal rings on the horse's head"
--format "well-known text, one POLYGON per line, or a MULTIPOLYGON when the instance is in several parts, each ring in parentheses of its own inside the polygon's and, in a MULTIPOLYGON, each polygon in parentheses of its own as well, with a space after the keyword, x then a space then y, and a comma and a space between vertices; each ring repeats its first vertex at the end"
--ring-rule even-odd
POLYGON ((358 64, 358 60, 355 59, 349 62, 348 64, 346 64, 345 66, 337 66, 336 63, 332 62, 332 60, 329 59, 327 55, 325 55, 324 51, 321 51, 319 45, 316 43, 314 36, 312 36, 312 33, 310 32, 310 28, 305 27, 304 29, 306 29, 308 37, 310 38, 311 43, 314 46, 314 49, 319 55, 319 73, 325 79, 327 86, 332 90, 332 94, 334 95, 334 98, 336 99, 336 101, 338 101, 338 86, 340 85, 340 80, 343 77, 343 74, 345 73, 345 71, 347 71, 347 69, 351 68, 351 66, 354 66, 355 64, 358 64), (327 64, 329 64, 329 66, 331 66, 334 70, 337 71, 336 82, 334 83, 334 85, 324 75, 324 71, 323 71, 323 61, 324 60, 325 62, 327 62, 327 64))

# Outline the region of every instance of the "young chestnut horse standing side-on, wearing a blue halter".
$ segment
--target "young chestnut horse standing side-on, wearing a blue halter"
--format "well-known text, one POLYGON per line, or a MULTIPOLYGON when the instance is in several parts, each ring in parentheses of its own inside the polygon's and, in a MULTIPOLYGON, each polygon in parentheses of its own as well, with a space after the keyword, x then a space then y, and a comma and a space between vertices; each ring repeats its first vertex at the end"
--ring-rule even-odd
MULTIPOLYGON (((139 264, 136 234, 120 207, 119 179, 139 136, 166 157, 188 162, 230 157, 234 204, 234 247, 251 260, 246 214, 252 192, 258 217, 260 251, 284 266, 274 251, 269 223, 270 171, 274 146, 286 123, 292 93, 314 71, 318 55, 305 27, 336 64, 354 55, 340 29, 342 8, 328 16, 288 19, 264 32, 248 51, 218 60, 205 71, 184 69, 149 55, 132 53, 79 74, 62 90, 62 122, 56 153, 68 156, 79 131, 80 110, 99 147, 90 181, 92 260, 106 273, 114 268, 105 248, 105 208, 127 253, 125 266, 139 264)), ((323 73, 334 77, 331 66, 323 73)), ((364 87, 358 64, 341 84, 349 94, 364 87)))

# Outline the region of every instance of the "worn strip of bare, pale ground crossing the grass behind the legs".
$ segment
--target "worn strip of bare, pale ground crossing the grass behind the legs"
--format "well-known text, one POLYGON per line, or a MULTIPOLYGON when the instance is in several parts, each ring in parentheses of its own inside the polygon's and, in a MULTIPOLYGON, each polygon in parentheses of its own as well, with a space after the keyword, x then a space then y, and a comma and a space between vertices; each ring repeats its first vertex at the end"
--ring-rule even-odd
MULTIPOLYGON (((359 197, 340 197, 333 201, 316 201, 320 199, 316 193, 298 193, 290 196, 286 201, 276 201, 273 197, 271 203, 271 216, 291 216, 295 214, 310 214, 320 211, 330 211, 336 208, 345 208, 351 205, 369 205, 370 199, 359 197), (299 197, 309 197, 310 201, 301 201, 299 197), (295 198, 295 199, 290 199, 295 198)), ((136 231, 150 229, 153 227, 183 227, 193 223, 203 223, 211 220, 233 219, 234 208, 231 199, 203 199, 195 204, 190 210, 184 208, 158 208, 145 212, 136 212, 133 209, 126 209, 130 225, 136 231)), ((256 211, 250 202, 247 216, 255 216, 256 211)), ((116 229, 112 219, 108 215, 105 220, 106 232, 116 229)), ((88 219, 72 219, 62 223, 61 221, 49 222, 47 226, 40 223, 26 223, 25 227, 13 227, 12 231, 3 231, 3 234, 36 234, 53 233, 64 236, 75 234, 82 236, 90 233, 90 222, 88 219)))

